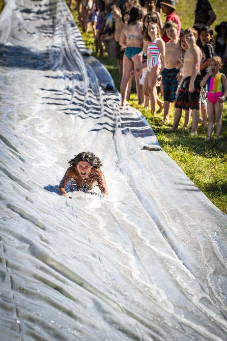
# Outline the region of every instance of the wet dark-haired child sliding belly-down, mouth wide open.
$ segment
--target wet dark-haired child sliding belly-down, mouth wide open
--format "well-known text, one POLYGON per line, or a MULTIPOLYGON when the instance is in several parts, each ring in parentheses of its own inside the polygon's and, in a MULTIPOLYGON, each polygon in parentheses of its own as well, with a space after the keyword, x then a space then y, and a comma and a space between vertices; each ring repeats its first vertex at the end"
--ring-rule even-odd
POLYGON ((82 152, 69 160, 69 165, 70 167, 67 169, 59 185, 60 194, 67 196, 65 187, 69 180, 73 179, 78 189, 85 188, 90 190, 95 182, 97 182, 100 191, 104 195, 108 195, 105 178, 100 170, 102 164, 97 156, 90 152, 82 152))

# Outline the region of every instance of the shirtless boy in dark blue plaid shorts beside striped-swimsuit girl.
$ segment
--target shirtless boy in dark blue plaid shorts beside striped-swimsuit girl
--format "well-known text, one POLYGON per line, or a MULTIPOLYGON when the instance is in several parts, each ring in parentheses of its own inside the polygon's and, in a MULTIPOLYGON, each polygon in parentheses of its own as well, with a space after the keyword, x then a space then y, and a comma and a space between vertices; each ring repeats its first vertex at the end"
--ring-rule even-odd
POLYGON ((161 76, 164 93, 164 122, 167 123, 169 121, 171 102, 175 103, 177 99, 177 75, 179 70, 176 69, 176 65, 180 51, 180 38, 178 38, 177 29, 178 25, 175 21, 166 22, 165 32, 170 41, 165 44, 165 67, 161 72, 161 76))

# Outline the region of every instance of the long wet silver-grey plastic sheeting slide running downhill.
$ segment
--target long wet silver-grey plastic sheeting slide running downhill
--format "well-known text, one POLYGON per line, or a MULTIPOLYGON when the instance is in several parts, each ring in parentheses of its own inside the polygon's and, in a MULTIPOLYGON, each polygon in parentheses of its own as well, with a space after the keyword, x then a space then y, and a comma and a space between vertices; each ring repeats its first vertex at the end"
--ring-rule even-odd
POLYGON ((106 90, 63 0, 8 1, 0 25, 0 338, 226 340, 226 215, 106 90), (107 200, 58 195, 81 151, 107 200))

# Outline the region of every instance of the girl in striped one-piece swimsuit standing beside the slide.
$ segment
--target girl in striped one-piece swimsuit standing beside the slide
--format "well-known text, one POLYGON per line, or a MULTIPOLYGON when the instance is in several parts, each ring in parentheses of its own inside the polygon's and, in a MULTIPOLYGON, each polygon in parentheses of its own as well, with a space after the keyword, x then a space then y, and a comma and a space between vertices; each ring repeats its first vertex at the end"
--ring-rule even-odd
MULTIPOLYGON (((134 75, 141 69, 148 67, 149 80, 148 80, 148 92, 151 100, 151 112, 156 115, 156 104, 157 104, 157 89, 156 83, 160 70, 164 68, 164 53, 165 43, 161 39, 160 29, 158 24, 150 23, 145 32, 144 38, 150 41, 147 48, 147 63, 134 69, 131 74, 134 75)), ((161 101, 158 100, 158 104, 161 101)))

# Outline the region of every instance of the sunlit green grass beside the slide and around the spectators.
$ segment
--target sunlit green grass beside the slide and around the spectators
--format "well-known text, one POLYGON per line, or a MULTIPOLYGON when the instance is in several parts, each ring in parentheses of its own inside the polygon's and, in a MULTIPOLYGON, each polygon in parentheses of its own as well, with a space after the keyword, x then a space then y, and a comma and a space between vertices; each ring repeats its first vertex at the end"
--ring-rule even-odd
MULTIPOLYGON (((220 1, 210 1, 210 3, 217 15, 217 20, 212 25, 214 29, 216 24, 224 21, 227 8, 220 1)), ((191 0, 190 6, 186 0, 179 0, 177 13, 180 15, 183 29, 193 24, 195 4, 196 0, 191 0)), ((76 20, 75 11, 73 11, 73 15, 76 20)), ((82 37, 86 46, 94 49, 91 32, 82 33, 82 37)), ((106 53, 102 58, 99 58, 95 53, 93 55, 106 67, 117 89, 120 90, 117 62, 108 59, 106 53)), ((181 129, 174 133, 167 133, 173 123, 173 105, 170 123, 163 125, 161 123, 163 114, 153 117, 149 110, 137 103, 136 94, 132 94, 130 104, 143 113, 156 134, 160 146, 183 169, 189 179, 205 193, 210 201, 221 211, 227 213, 227 103, 224 103, 221 137, 219 140, 211 140, 209 143, 205 142, 207 129, 201 126, 198 128, 197 136, 190 136, 188 132, 181 129)), ((182 116, 180 127, 183 125, 183 120, 182 116)))

